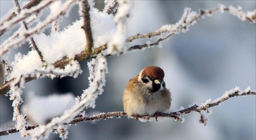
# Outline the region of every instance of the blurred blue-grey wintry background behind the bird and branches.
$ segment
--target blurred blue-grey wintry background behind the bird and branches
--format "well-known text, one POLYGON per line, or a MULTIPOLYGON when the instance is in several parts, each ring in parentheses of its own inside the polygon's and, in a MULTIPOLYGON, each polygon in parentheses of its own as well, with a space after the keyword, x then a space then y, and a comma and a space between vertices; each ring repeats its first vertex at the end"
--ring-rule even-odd
MULTIPOLYGON (((27 1, 21 1, 25 5, 27 1)), ((175 24, 185 7, 198 12, 210 9, 219 3, 241 6, 244 11, 252 11, 256 1, 134 1, 134 8, 128 19, 128 36, 158 30, 162 25, 175 24)), ((1 17, 12 11, 11 0, 0 0, 1 17)), ((100 11, 103 1, 95 1, 100 11)), ((78 6, 74 6, 69 17, 64 18, 60 29, 64 29, 79 19, 78 6)), ((41 19, 46 18, 44 12, 41 19)), ((15 29, 17 29, 16 27, 15 29)), ((13 30, 15 30, 13 29, 13 30)), ((226 90, 239 86, 242 90, 251 86, 256 89, 256 25, 242 22, 232 14, 213 13, 197 21, 189 32, 180 33, 164 42, 162 48, 149 48, 145 51, 130 51, 118 57, 108 57, 109 74, 106 76, 105 92, 96 100, 96 108, 88 109, 87 115, 108 111, 123 111, 122 94, 126 83, 148 65, 160 66, 165 71, 166 87, 172 92, 172 110, 193 103, 200 105, 207 99, 216 99, 226 90)), ((50 28, 45 31, 50 34, 50 28)), ((0 43, 9 35, 2 35, 0 43)), ((135 41, 143 44, 146 39, 135 41)), ((131 46, 133 44, 127 44, 131 46)), ((28 43, 13 50, 14 54, 27 54, 28 43)), ((90 60, 88 60, 90 61, 90 60)), ((87 61, 79 62, 84 71, 78 78, 41 78, 25 84, 24 102, 30 92, 37 96, 73 93, 81 95, 88 87, 87 61)), ((0 125, 12 120, 12 102, 9 97, 0 96, 0 125)), ((24 103, 23 103, 24 105, 24 103)), ((22 106, 22 105, 21 105, 22 106)), ((135 122, 134 119, 107 119, 94 122, 80 122, 69 126, 68 139, 195 139, 195 140, 255 140, 256 139, 256 97, 235 97, 218 107, 210 108, 212 114, 206 126, 199 123, 200 114, 184 116, 185 122, 173 118, 158 119, 158 122, 135 122)), ((19 133, 0 137, 1 140, 18 140, 19 133)), ((50 134, 50 140, 59 140, 58 134, 50 134)))

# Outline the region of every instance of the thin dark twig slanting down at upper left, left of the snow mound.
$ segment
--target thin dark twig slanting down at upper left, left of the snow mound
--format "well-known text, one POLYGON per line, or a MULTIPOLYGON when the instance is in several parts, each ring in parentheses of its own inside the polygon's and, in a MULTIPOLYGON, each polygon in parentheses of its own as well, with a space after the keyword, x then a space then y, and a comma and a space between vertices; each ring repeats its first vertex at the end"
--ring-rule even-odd
MULTIPOLYGON (((15 3, 15 6, 16 6, 16 8, 17 8, 17 12, 20 14, 21 9, 20 9, 20 5, 19 5, 19 3, 18 3, 18 0, 14 0, 14 3, 15 3)), ((25 27, 25 29, 28 30, 28 27, 27 27, 26 22, 23 21, 22 24, 23 24, 23 26, 25 27)), ((39 55, 41 62, 42 62, 43 65, 44 65, 44 64, 45 64, 44 58, 43 58, 43 56, 42 56, 41 51, 38 49, 37 44, 35 44, 34 38, 33 38, 33 37, 30 37, 29 39, 30 39, 30 41, 31 41, 31 43, 32 43, 32 45, 33 45, 33 47, 34 47, 34 49, 37 51, 37 54, 39 55)))

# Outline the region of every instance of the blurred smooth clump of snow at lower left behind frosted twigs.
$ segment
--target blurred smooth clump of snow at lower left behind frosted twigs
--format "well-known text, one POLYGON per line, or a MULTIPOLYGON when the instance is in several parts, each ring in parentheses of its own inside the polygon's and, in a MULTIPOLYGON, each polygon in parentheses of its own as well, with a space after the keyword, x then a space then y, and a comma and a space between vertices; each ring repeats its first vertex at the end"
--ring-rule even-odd
POLYGON ((71 108, 75 104, 74 98, 72 93, 30 96, 21 109, 23 114, 27 115, 30 123, 34 125, 44 124, 53 117, 61 116, 64 110, 71 108))

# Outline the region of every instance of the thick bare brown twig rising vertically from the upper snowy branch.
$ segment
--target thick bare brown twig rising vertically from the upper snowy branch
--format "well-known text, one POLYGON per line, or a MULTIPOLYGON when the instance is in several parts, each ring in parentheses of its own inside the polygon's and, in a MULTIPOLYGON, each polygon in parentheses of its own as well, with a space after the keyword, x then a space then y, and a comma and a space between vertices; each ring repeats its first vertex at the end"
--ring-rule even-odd
POLYGON ((91 48, 93 47, 93 37, 91 35, 91 23, 90 23, 90 5, 88 5, 87 0, 82 1, 82 13, 83 13, 83 19, 84 24, 81 27, 84 29, 85 37, 86 37, 86 45, 85 45, 85 52, 90 53, 91 48))

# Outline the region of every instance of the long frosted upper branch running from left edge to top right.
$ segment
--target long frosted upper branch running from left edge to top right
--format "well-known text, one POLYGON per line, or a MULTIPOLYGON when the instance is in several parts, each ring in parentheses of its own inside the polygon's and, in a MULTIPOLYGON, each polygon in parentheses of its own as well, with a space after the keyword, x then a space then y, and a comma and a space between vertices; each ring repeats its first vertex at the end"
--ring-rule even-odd
MULTIPOLYGON (((162 28, 160 28, 160 30, 157 30, 155 32, 151 32, 151 33, 147 33, 147 34, 143 34, 143 35, 137 34, 135 36, 129 37, 126 40, 126 42, 131 42, 135 39, 151 38, 152 36, 161 35, 161 36, 159 36, 159 39, 157 41, 153 42, 153 43, 146 43, 146 44, 142 44, 142 45, 133 45, 133 46, 128 48, 128 51, 158 45, 160 42, 166 41, 167 39, 169 39, 173 35, 177 35, 178 33, 183 32, 183 31, 186 32, 187 29, 189 28, 189 26, 193 25, 195 23, 195 21, 201 19, 204 16, 209 16, 213 12, 216 12, 216 11, 220 11, 220 12, 229 11, 231 14, 237 15, 237 17, 239 19, 241 19, 242 21, 246 20, 246 21, 249 21, 249 22, 251 22, 251 21, 255 22, 256 12, 249 16, 249 15, 245 14, 244 12, 242 12, 241 10, 239 11, 238 9, 235 9, 233 7, 225 8, 224 6, 218 6, 217 8, 213 8, 213 9, 210 9, 210 10, 200 10, 199 14, 196 14, 195 16, 193 16, 190 19, 187 18, 187 16, 190 14, 190 9, 185 9, 184 14, 181 17, 181 20, 178 21, 176 24, 163 26, 162 28), (251 21, 248 20, 247 18, 251 19, 251 21), (173 28, 174 25, 175 25, 176 28, 173 28), (166 33, 167 33, 167 35, 165 35, 166 33)), ((32 35, 32 33, 31 33, 31 35, 32 35)), ((81 60, 87 60, 87 59, 90 59, 90 58, 94 58, 95 54, 100 53, 101 51, 105 50, 106 48, 107 48, 107 44, 105 44, 105 45, 103 45, 99 48, 96 48, 91 53, 81 52, 80 54, 76 54, 75 58, 73 58, 73 59, 77 60, 77 61, 81 61, 81 60)), ((120 54, 122 54, 122 52, 120 54)), ((106 56, 115 56, 115 55, 106 55, 106 56)), ((70 59, 68 57, 63 57, 61 60, 55 62, 54 66, 56 68, 64 68, 64 66, 67 65, 70 62, 70 60, 72 60, 72 59, 70 59)), ((10 81, 12 81, 13 79, 11 79, 10 81)), ((35 77, 27 77, 26 79, 27 79, 26 80, 26 82, 27 82, 27 81, 34 80, 36 78, 35 77)), ((7 83, 0 86, 0 95, 5 95, 9 91, 9 84, 10 83, 11 82, 8 81, 7 83)))

